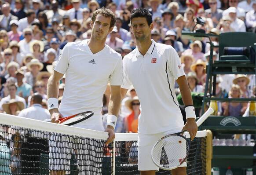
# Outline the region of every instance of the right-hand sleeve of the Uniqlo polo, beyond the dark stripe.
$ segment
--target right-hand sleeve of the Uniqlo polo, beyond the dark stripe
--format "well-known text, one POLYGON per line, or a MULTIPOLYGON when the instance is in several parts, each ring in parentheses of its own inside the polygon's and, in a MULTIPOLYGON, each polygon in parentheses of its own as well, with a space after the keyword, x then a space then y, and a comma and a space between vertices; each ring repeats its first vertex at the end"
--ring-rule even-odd
POLYGON ((168 69, 172 73, 172 76, 177 80, 179 77, 185 75, 183 66, 181 65, 179 55, 173 47, 168 49, 168 69))

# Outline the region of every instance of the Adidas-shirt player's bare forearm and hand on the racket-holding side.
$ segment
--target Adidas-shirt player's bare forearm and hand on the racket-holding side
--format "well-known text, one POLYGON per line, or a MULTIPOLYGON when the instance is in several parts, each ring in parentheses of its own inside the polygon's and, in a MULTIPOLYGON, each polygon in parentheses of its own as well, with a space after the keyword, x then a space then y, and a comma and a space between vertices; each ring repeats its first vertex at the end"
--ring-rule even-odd
MULTIPOLYGON (((48 99, 50 98, 57 98, 59 95, 59 81, 62 79, 64 74, 59 73, 54 70, 54 72, 51 74, 51 77, 48 80, 47 84, 47 96, 48 99)), ((59 123, 59 117, 61 114, 59 113, 59 106, 55 106, 56 108, 49 109, 49 112, 51 114, 51 122, 53 123, 59 123)), ((62 116, 61 116, 62 117, 62 116)))

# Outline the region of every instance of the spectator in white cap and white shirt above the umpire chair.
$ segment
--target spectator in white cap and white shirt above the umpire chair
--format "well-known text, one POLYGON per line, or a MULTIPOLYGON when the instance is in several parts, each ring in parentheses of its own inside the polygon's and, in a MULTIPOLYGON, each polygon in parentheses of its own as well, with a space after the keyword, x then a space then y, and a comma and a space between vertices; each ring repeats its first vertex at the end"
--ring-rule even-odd
POLYGON ((237 18, 236 7, 229 7, 228 10, 229 10, 229 17, 232 20, 230 27, 234 29, 235 32, 246 32, 245 22, 237 18))

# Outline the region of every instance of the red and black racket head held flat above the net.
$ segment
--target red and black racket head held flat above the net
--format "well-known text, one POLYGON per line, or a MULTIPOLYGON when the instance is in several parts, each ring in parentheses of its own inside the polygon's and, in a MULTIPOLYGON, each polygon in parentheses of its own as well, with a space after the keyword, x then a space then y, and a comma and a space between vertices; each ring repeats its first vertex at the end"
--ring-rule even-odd
POLYGON ((93 116, 93 114, 94 113, 92 111, 86 111, 83 113, 77 113, 73 116, 59 118, 59 124, 64 124, 64 125, 68 125, 68 126, 78 124, 81 121, 84 121, 84 120, 90 118, 91 116, 93 116))

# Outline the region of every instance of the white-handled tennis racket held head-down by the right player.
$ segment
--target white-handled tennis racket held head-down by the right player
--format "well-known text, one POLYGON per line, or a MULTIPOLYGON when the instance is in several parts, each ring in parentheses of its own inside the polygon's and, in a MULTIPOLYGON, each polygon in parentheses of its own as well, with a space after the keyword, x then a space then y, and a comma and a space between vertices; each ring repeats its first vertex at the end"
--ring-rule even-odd
MULTIPOLYGON (((198 120, 197 127, 200 126, 212 113, 209 108, 198 120)), ((157 167, 164 170, 172 170, 179 167, 186 161, 190 150, 190 138, 188 132, 181 131, 169 134, 158 140, 151 150, 151 158, 157 167)))

